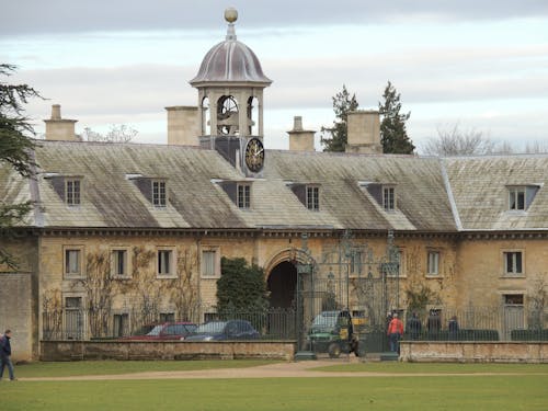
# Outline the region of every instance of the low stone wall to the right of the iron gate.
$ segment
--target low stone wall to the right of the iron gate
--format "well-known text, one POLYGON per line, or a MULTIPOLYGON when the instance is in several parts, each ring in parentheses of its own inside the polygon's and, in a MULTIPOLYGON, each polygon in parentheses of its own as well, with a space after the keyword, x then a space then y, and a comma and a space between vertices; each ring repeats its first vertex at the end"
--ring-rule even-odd
POLYGON ((402 341, 400 361, 416 363, 548 363, 548 342, 402 341))

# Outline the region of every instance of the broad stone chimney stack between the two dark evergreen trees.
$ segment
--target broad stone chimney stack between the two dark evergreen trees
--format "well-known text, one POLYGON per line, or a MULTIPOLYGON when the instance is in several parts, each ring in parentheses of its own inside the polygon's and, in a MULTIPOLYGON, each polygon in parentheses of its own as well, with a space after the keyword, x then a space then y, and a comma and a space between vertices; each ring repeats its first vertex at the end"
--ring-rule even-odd
POLYGON ((349 113, 346 152, 381 155, 380 116, 375 110, 349 113))

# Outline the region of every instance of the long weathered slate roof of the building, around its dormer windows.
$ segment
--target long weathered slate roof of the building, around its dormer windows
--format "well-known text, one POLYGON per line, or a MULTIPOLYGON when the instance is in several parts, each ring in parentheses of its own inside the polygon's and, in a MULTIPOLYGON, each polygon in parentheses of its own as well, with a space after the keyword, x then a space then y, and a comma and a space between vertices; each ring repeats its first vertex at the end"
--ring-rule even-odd
POLYGON ((267 150, 262 179, 247 180, 214 150, 196 147, 41 141, 37 178, 0 167, 0 201, 36 199, 26 224, 46 228, 352 229, 456 232, 547 229, 548 156, 426 158, 267 150), (130 178, 165 179, 169 204, 155 207, 130 178), (82 178, 69 207, 53 175, 82 178), (239 209, 220 181, 249 181, 251 208, 239 209), (320 210, 292 184, 318 184, 320 210), (393 184, 386 212, 367 184, 393 184), (507 210, 506 185, 536 184, 527 212, 507 210))

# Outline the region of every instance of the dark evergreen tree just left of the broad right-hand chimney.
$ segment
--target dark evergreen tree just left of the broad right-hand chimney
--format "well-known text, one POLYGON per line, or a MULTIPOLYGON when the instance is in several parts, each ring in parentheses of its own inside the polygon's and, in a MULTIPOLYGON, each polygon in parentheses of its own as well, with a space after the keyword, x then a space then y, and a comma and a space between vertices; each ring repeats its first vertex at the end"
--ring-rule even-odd
POLYGON ((328 133, 329 137, 321 137, 321 144, 324 146, 323 151, 344 151, 349 140, 347 116, 350 112, 357 109, 358 103, 356 94, 350 95, 346 85, 343 84, 341 92, 336 93, 333 100, 333 111, 335 121, 332 127, 322 127, 322 133, 328 133))

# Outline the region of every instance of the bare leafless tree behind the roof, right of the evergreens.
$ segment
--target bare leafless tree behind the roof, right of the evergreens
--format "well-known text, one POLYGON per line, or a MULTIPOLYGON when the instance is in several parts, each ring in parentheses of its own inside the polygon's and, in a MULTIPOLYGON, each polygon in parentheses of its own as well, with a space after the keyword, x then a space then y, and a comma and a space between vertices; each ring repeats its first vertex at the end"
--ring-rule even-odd
POLYGON ((498 152, 496 144, 476 129, 461 130, 458 123, 449 129, 437 128, 437 137, 432 137, 424 146, 431 156, 471 156, 498 152))

